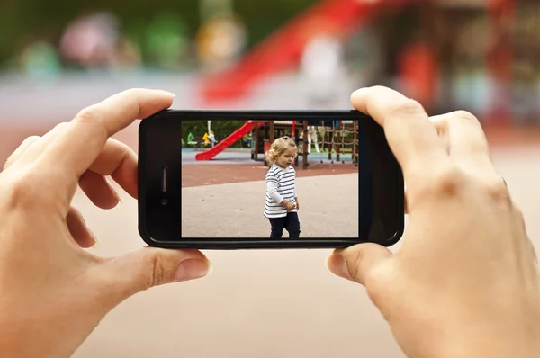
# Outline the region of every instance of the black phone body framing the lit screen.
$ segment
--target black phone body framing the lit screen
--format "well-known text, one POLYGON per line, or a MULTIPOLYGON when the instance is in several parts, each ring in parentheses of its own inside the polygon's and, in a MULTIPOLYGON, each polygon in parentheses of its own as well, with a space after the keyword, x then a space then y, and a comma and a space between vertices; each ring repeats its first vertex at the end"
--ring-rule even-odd
MULTIPOLYGON (((355 110, 157 112, 139 124, 138 170, 139 234, 149 246, 198 249, 338 248, 365 242, 392 246, 403 234, 404 182, 401 167, 389 148, 383 128, 371 117, 355 110), (358 121, 356 163, 359 208, 358 217, 353 218, 358 220, 358 235, 295 239, 286 237, 284 231, 284 237, 280 239, 182 237, 182 121, 208 120, 297 121, 297 127, 301 128, 303 121, 358 121)), ((303 169, 299 167, 296 170, 303 169)), ((266 220, 262 221, 264 225, 268 225, 268 219, 263 218, 262 214, 260 216, 261 220, 266 220)))

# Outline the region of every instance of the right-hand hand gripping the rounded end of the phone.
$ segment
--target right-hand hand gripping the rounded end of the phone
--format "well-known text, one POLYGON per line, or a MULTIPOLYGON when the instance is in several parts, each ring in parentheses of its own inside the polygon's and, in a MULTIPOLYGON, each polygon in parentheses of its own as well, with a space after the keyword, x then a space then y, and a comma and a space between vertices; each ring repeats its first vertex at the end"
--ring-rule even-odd
POLYGON ((431 119, 383 87, 352 103, 381 124, 407 183, 401 250, 336 250, 329 269, 365 285, 408 357, 533 357, 540 352, 536 253, 521 212, 468 112, 431 119))

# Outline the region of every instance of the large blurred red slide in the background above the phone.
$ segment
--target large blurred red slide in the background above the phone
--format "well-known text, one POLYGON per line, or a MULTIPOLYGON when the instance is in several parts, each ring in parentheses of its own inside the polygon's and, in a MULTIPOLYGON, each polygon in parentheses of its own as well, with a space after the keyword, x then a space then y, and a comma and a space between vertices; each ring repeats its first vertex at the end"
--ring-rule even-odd
POLYGON ((385 5, 399 6, 415 0, 320 0, 291 22, 275 31, 238 64, 202 80, 203 105, 238 99, 267 76, 298 64, 312 26, 354 31, 385 5))

